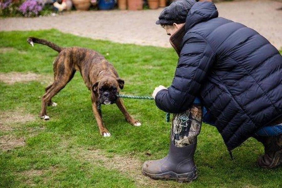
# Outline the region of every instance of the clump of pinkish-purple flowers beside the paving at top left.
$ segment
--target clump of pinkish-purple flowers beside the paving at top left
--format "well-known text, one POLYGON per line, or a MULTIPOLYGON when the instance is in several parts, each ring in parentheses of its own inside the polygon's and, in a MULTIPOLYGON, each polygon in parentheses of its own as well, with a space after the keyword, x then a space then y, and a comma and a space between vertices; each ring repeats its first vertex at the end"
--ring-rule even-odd
POLYGON ((44 3, 42 0, 26 0, 20 7, 19 11, 25 17, 37 16, 42 11, 44 3))

